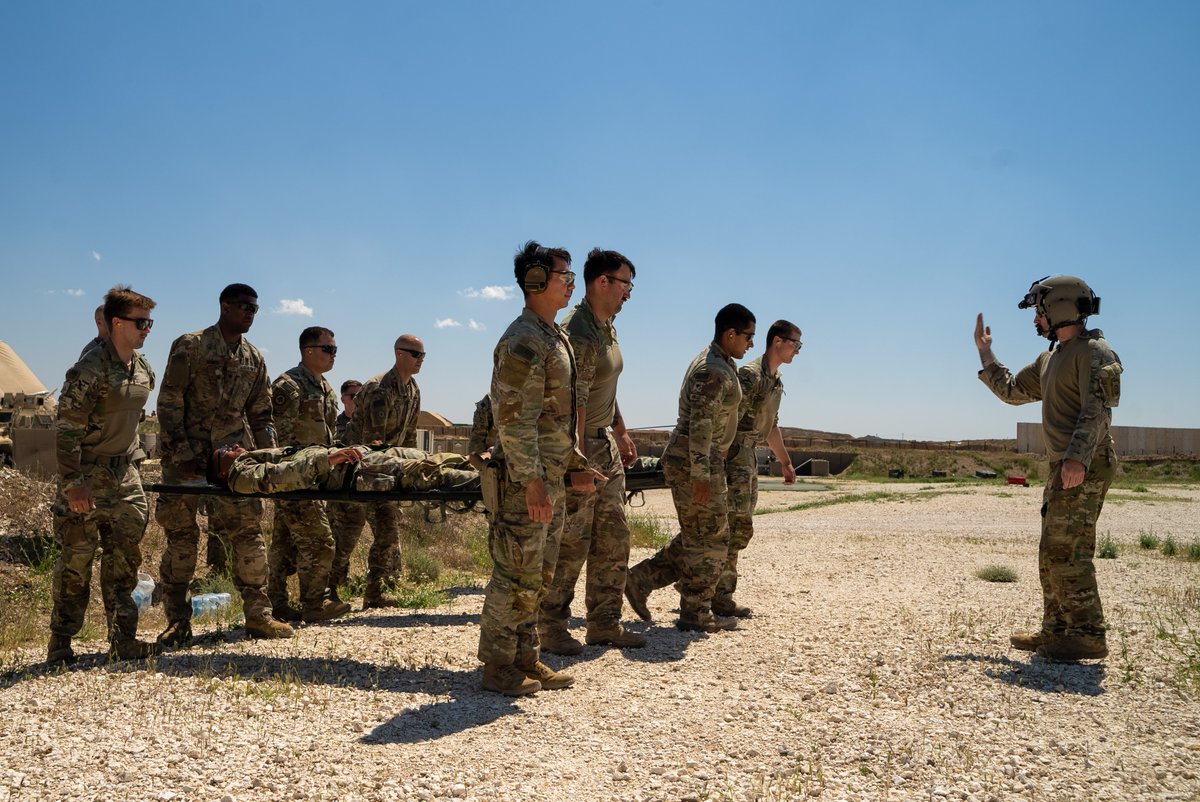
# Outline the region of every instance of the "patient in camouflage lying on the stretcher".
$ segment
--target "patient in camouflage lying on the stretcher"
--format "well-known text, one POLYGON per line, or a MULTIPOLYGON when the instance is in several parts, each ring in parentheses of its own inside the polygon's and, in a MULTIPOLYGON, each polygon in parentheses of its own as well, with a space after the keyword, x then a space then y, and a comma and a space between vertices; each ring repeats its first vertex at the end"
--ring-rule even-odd
POLYGON ((209 479, 236 493, 342 490, 352 473, 354 490, 479 490, 479 473, 458 454, 415 448, 372 450, 367 445, 260 448, 223 445, 212 451, 209 479))

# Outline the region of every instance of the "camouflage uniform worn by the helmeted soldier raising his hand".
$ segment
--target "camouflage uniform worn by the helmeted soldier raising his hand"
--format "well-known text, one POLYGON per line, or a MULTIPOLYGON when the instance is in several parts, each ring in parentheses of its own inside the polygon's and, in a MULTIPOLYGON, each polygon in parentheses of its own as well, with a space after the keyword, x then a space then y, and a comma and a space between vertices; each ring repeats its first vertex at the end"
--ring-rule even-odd
POLYGON ((1042 430, 1050 477, 1042 496, 1042 633, 1104 640, 1104 610, 1096 586, 1096 521, 1117 469, 1109 427, 1121 397, 1121 360, 1099 329, 1043 352, 1013 376, 994 361, 979 378, 1002 401, 1042 401, 1042 430), (1063 461, 1086 468, 1084 483, 1062 487, 1063 461))

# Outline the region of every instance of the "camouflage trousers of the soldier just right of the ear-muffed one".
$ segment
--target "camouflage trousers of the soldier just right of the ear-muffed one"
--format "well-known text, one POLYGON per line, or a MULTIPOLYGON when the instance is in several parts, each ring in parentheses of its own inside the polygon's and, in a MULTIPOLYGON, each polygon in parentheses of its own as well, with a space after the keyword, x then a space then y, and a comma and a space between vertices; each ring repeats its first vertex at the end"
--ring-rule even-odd
POLYGON ((616 627, 620 622, 625 576, 629 573, 629 525, 625 523, 625 471, 612 435, 584 441, 588 462, 608 481, 594 493, 566 491, 566 522, 558 546, 558 564, 541 602, 542 627, 565 627, 583 563, 588 624, 616 627))

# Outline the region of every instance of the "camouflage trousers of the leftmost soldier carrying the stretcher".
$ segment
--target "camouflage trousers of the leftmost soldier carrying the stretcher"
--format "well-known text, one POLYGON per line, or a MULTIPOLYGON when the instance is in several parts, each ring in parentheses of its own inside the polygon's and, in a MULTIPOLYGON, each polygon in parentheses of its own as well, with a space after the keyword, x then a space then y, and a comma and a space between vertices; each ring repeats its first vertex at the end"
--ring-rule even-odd
POLYGON ((142 535, 149 509, 142 478, 132 465, 118 467, 83 466, 83 480, 91 489, 96 509, 72 513, 59 491, 50 507, 54 539, 61 549, 54 561, 54 611, 50 633, 74 638, 83 628, 91 595, 91 565, 96 549, 100 558, 100 589, 112 641, 136 638, 138 606, 132 593, 142 565, 142 535))

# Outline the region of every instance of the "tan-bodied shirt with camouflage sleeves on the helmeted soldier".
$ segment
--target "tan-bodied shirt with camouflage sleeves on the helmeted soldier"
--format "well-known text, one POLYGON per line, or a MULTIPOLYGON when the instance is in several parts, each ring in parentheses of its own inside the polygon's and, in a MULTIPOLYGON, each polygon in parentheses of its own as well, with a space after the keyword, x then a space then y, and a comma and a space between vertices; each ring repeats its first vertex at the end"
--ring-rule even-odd
POLYGON ((1007 403, 1042 402, 1042 433, 1051 462, 1091 466, 1096 450, 1112 442, 1112 407, 1121 401, 1121 358, 1104 333, 1085 329, 1022 367, 1015 376, 998 361, 979 378, 1007 403))

